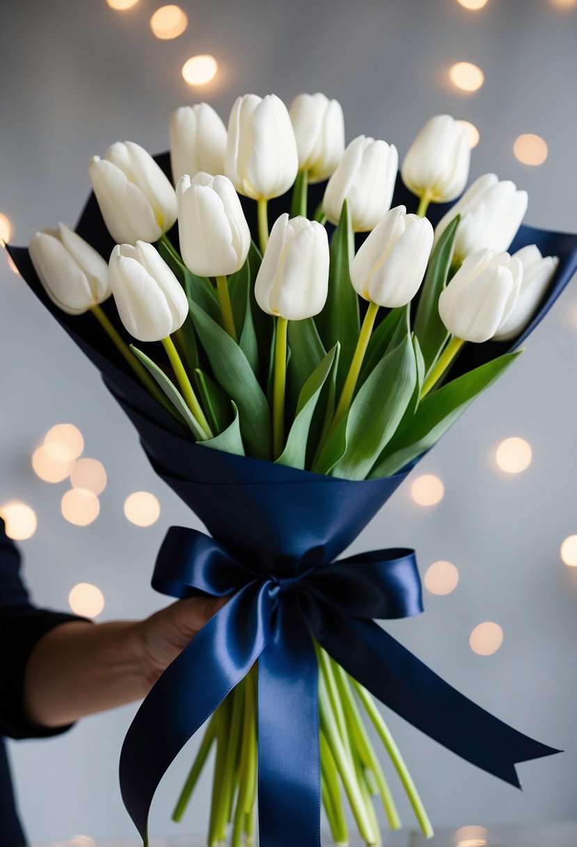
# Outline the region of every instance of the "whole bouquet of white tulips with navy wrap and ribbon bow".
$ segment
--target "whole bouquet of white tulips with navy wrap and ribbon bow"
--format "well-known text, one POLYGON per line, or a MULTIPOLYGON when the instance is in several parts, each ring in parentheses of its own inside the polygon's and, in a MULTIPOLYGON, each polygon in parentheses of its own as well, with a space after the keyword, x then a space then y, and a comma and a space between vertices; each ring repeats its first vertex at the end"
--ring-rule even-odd
MULTIPOLYGON (((369 689, 512 783, 515 761, 552 749, 466 700, 373 622, 421 611, 412 551, 333 559, 514 362, 573 273, 575 239, 534 230, 560 261, 530 232, 505 252, 527 197, 494 174, 443 206, 434 230, 431 204, 454 201, 469 175, 466 130, 448 115, 404 158, 418 203, 395 190, 396 148, 358 136, 345 149, 342 109, 321 94, 290 110, 274 95, 239 97, 228 130, 207 104, 182 108, 171 142, 175 187, 166 157, 114 144, 91 161, 100 214, 92 199, 86 241, 63 224, 30 241, 52 311, 212 533, 171 530, 154 584, 233 598, 135 718, 125 802, 146 837, 158 780, 212 715, 175 810, 182 817, 216 746, 209 844, 229 823, 234 845, 250 838, 257 781, 261 844, 318 844, 320 796, 347 843, 343 795, 365 842, 380 844, 372 797, 392 828, 400 821, 366 711, 430 835, 369 689), (111 292, 117 312, 101 305, 111 292), (89 311, 113 346, 77 317, 89 311)), ((25 252, 12 254, 35 287, 25 252)))

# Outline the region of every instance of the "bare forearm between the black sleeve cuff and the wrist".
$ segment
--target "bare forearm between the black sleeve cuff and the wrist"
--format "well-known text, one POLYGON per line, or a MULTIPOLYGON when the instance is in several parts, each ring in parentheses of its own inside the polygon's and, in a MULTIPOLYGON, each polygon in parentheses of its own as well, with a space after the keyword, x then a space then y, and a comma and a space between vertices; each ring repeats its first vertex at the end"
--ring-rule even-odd
POLYGON ((146 695, 150 683, 139 624, 63 623, 40 639, 28 660, 23 706, 32 723, 58 727, 146 695))

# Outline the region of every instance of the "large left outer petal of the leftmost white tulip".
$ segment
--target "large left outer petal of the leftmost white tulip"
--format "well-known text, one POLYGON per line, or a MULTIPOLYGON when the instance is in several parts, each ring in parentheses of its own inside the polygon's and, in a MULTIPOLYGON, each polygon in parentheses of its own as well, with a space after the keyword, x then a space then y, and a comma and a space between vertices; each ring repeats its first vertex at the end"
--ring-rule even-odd
POLYGON ((58 238, 37 232, 30 239, 30 259, 52 302, 68 314, 96 305, 86 275, 58 238))

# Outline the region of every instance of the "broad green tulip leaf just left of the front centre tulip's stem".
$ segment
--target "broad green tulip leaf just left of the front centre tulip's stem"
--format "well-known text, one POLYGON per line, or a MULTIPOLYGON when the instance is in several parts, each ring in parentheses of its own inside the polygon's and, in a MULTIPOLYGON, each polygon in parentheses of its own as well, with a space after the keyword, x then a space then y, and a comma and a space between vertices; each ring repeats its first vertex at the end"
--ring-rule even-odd
POLYGON ((239 345, 195 302, 190 313, 212 373, 239 407, 240 431, 250 456, 271 456, 271 410, 250 362, 239 345))

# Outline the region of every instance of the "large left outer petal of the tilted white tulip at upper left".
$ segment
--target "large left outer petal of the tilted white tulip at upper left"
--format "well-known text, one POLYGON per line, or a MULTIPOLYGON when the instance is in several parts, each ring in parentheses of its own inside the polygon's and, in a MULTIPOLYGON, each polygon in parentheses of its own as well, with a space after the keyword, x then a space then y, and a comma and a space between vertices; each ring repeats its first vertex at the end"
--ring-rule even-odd
POLYGON ((91 159, 89 173, 102 218, 114 241, 157 241, 162 229, 140 188, 107 159, 91 159))

